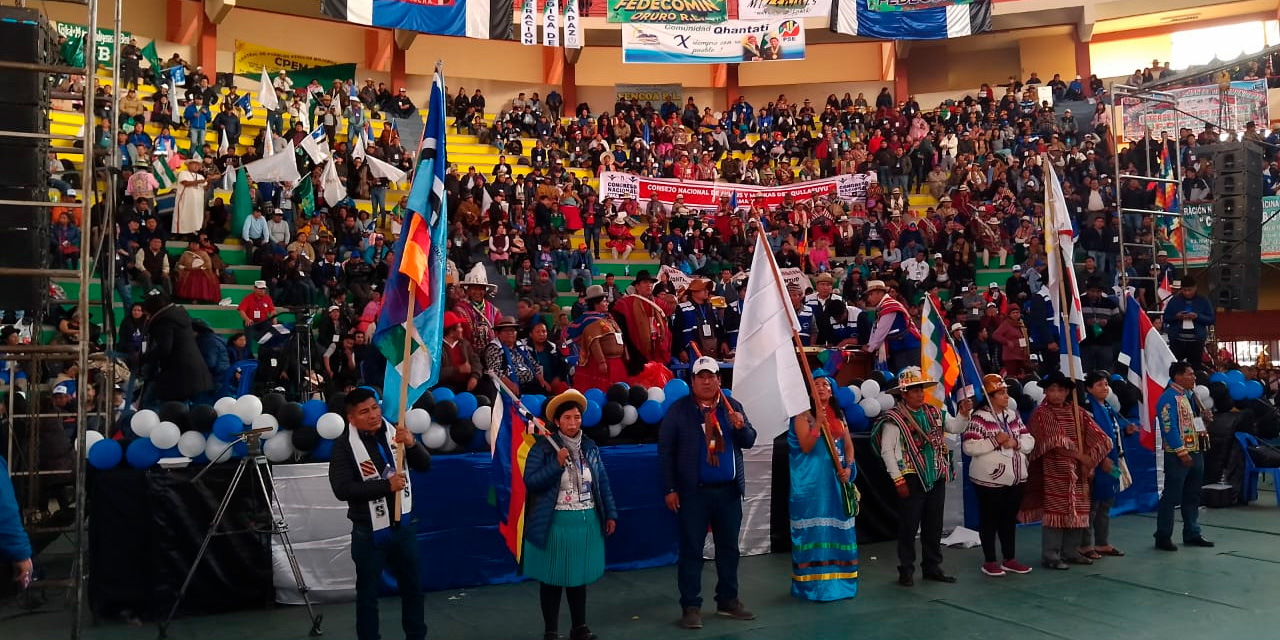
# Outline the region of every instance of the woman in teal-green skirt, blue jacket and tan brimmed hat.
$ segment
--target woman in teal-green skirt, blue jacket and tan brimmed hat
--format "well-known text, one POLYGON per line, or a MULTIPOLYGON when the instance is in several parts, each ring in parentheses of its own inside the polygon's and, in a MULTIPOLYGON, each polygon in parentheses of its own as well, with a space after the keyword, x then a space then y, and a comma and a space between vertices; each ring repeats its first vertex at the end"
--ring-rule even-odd
POLYGON ((561 591, 572 620, 570 640, 594 640, 586 627, 586 585, 604 575, 604 536, 618 511, 600 449, 582 436, 586 398, 576 390, 547 402, 557 433, 541 438, 525 462, 529 492, 521 568, 541 582, 544 640, 559 637, 561 591))

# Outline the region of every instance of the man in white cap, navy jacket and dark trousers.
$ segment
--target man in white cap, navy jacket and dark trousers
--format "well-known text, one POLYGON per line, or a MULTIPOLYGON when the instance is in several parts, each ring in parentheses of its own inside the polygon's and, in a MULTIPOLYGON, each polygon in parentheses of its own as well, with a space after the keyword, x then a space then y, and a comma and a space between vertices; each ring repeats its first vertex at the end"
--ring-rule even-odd
POLYGON ((721 393, 719 365, 694 361, 690 394, 671 404, 658 429, 658 461, 667 508, 680 530, 677 584, 681 626, 701 628, 703 545, 708 527, 716 545, 716 614, 754 620, 739 599, 737 538, 742 526, 746 476, 742 449, 755 445, 755 429, 742 406, 721 393))

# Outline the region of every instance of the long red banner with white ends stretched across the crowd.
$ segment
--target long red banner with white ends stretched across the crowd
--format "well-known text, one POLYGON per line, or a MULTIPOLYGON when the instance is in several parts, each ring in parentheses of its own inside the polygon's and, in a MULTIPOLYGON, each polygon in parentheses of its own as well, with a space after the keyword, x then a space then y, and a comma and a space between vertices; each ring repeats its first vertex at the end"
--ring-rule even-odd
POLYGON ((845 174, 820 180, 799 182, 785 187, 755 187, 750 184, 730 184, 719 182, 682 182, 663 178, 643 178, 630 173, 604 172, 600 174, 600 198, 634 198, 641 205, 657 198, 666 209, 671 209, 676 196, 685 196, 685 206, 696 211, 716 211, 721 198, 732 198, 737 193, 739 209, 749 207, 758 197, 764 204, 776 207, 790 195, 794 200, 813 197, 838 197, 846 202, 867 200, 867 174, 845 174))

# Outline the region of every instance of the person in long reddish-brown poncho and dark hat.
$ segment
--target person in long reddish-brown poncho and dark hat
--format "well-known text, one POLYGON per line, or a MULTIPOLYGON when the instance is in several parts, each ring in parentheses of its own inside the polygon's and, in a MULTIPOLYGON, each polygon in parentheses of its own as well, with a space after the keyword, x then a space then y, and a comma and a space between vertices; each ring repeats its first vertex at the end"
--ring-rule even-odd
POLYGON ((1019 520, 1041 521, 1044 567, 1093 564, 1079 549, 1089 526, 1093 472, 1111 451, 1111 439, 1070 397, 1074 380, 1053 371, 1036 384, 1044 389, 1044 402, 1036 407, 1027 425, 1036 448, 1029 456, 1030 477, 1019 520))

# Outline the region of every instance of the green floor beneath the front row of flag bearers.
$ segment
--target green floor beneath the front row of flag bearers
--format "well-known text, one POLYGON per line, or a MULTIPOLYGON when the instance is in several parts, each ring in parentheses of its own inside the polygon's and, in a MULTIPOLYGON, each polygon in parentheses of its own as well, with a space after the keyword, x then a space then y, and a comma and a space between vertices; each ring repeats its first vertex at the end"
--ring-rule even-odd
MULTIPOLYGON (((678 617, 675 567, 608 573, 588 591, 588 614, 602 640, 744 639, 744 640, 923 640, 961 639, 1219 639, 1275 637, 1280 599, 1280 508, 1263 492, 1251 507, 1204 511, 1206 538, 1213 549, 1152 548, 1153 515, 1125 516, 1112 524, 1114 543, 1128 552, 1092 567, 1056 572, 1039 568, 1039 530, 1019 531, 1020 558, 1037 568, 1027 576, 986 577, 978 572, 978 549, 945 550, 946 567, 959 584, 893 584, 893 543, 860 549, 861 580, 854 600, 815 604, 788 595, 790 557, 744 558, 741 593, 759 616, 733 622, 704 607, 705 628, 685 631, 678 617)), ((626 522, 620 522, 626 526, 626 522)), ((1178 536, 1175 535, 1175 541, 1178 536)), ((704 595, 713 593, 707 564, 704 595)), ((58 602, 56 598, 52 602, 58 602)), ((710 599, 708 598, 708 602, 710 599)), ((50 605, 52 607, 52 605, 50 605)), ((324 637, 353 639, 353 605, 324 605, 324 637)), ((534 584, 503 585, 428 594, 429 637, 539 639, 541 616, 534 584)), ((0 611, 4 637, 68 637, 65 611, 45 609, 14 617, 0 611)), ((562 637, 568 611, 562 607, 562 637)), ((403 637, 399 602, 381 602, 383 637, 403 637)), ((169 636, 180 640, 284 640, 307 637, 302 608, 188 618, 169 636)), ((146 639, 155 626, 131 627, 99 621, 90 639, 146 639)))

